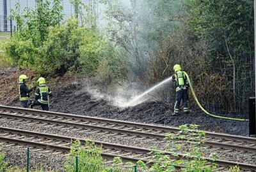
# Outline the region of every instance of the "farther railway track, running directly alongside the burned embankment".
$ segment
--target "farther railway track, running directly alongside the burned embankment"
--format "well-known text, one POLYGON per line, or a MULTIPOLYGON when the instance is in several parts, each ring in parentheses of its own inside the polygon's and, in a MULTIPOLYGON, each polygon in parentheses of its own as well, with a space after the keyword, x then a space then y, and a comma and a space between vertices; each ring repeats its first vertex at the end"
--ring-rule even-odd
MULTIPOLYGON (((151 141, 158 142, 164 141, 164 138, 168 134, 179 133, 180 131, 179 128, 163 125, 141 124, 9 106, 0 106, 0 117, 0 120, 34 122, 34 124, 39 125, 57 125, 58 127, 70 127, 70 129, 73 128, 76 130, 95 131, 95 133, 99 134, 122 135, 131 138, 150 138, 152 139, 151 141)), ((205 132, 205 140, 202 145, 208 148, 214 148, 214 150, 237 150, 252 155, 256 154, 256 138, 205 132)))

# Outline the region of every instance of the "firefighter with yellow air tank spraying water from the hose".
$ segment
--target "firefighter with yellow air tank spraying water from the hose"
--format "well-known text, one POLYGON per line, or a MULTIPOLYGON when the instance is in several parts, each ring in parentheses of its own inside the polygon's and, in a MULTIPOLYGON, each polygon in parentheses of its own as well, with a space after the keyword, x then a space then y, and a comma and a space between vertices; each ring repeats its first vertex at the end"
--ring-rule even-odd
POLYGON ((174 113, 172 115, 179 115, 180 101, 182 100, 183 111, 185 114, 189 114, 188 111, 188 79, 182 72, 179 64, 173 66, 175 74, 172 76, 172 81, 175 82, 176 96, 174 113))

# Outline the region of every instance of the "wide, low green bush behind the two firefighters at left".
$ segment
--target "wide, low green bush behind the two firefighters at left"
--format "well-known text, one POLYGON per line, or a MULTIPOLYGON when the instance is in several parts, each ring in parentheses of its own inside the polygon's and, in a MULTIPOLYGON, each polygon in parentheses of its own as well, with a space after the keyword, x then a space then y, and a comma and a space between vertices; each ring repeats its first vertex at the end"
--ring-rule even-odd
POLYGON ((63 75, 75 70, 84 75, 95 74, 102 82, 127 75, 125 55, 94 29, 77 27, 77 22, 70 18, 60 27, 48 27, 47 38, 40 47, 35 47, 32 38, 23 40, 16 33, 12 41, 3 44, 6 55, 15 65, 34 69, 41 75, 63 75))

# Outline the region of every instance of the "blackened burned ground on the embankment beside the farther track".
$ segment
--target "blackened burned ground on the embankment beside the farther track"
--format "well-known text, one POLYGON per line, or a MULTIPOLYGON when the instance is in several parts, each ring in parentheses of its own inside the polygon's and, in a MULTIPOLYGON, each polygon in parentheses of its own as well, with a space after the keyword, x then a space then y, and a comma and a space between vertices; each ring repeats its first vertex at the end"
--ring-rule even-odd
MULTIPOLYGON (((17 73, 17 76, 19 76, 19 73, 17 73)), ((51 99, 51 111, 176 127, 182 124, 198 124, 200 129, 205 131, 248 136, 248 122, 213 118, 200 111, 192 111, 189 115, 181 114, 178 117, 172 117, 172 106, 161 101, 149 101, 129 108, 118 108, 111 105, 104 98, 97 99, 93 97, 87 91, 86 87, 88 85, 84 84, 83 80, 69 80, 68 82, 67 80, 63 77, 51 81, 51 89, 54 94, 51 99)), ((8 83, 2 84, 8 85, 8 83)), ((8 89, 7 86, 5 88, 8 89)), ((17 94, 16 91, 8 92, 6 90, 4 94, 2 92, 1 96, 17 94)), ((12 99, 2 97, 0 104, 20 106, 18 97, 11 97, 12 99)), ((225 116, 244 118, 244 115, 225 116)))

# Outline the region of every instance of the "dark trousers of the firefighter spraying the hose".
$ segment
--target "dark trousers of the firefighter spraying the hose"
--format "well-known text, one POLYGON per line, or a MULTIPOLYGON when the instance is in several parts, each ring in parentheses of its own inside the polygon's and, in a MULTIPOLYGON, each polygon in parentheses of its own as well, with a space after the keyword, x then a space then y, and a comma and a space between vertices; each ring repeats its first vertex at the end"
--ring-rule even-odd
POLYGON ((188 90, 179 90, 176 92, 174 113, 179 113, 181 100, 182 100, 183 111, 185 113, 188 113, 188 90))

